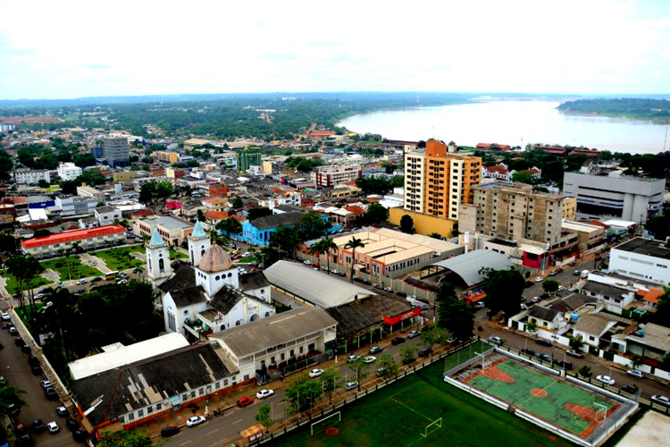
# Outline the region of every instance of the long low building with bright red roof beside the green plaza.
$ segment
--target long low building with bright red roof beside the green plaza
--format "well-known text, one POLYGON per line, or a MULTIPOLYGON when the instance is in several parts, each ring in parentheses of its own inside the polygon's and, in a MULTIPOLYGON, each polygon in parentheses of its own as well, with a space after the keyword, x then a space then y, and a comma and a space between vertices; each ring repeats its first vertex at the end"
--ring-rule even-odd
POLYGON ((21 248, 25 254, 43 258, 57 254, 60 250, 73 249, 77 242, 83 249, 105 247, 126 239, 126 228, 119 225, 107 225, 86 230, 65 231, 57 235, 33 237, 22 240, 21 248))

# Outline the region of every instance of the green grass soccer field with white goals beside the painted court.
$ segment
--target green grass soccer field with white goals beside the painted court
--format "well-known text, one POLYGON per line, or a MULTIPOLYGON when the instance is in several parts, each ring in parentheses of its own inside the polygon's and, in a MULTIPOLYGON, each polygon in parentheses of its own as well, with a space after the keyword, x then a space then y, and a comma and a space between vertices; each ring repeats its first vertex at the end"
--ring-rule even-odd
MULTIPOLYGON (((481 346, 466 349, 460 362, 481 351, 481 346)), ((456 356, 452 356, 456 357, 456 356)), ((458 362, 447 358, 447 367, 458 362)), ((341 422, 331 418, 315 426, 310 424, 267 443, 269 446, 308 447, 387 447, 387 446, 473 446, 539 447, 572 446, 546 430, 527 423, 507 411, 445 383, 445 362, 421 369, 396 383, 382 388, 358 402, 343 406, 341 422), (422 437, 426 425, 442 418, 442 428, 422 437), (327 436, 327 427, 337 427, 336 436, 327 436)))

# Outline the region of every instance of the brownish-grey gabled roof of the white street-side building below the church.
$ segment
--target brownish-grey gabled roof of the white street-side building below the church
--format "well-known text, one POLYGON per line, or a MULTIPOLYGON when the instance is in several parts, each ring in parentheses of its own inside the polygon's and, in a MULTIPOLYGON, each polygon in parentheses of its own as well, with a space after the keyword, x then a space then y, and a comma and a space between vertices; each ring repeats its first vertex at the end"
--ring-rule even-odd
POLYGON ((216 332, 209 337, 228 347, 239 359, 336 324, 337 321, 325 310, 303 307, 216 332))

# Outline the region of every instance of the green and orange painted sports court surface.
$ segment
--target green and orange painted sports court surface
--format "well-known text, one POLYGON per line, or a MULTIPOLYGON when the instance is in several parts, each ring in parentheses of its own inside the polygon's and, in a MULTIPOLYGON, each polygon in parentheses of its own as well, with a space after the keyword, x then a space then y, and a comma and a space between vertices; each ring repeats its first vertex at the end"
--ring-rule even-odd
POLYGON ((463 383, 484 390, 583 438, 588 437, 599 425, 595 413, 602 408, 595 403, 604 405, 608 413, 618 407, 616 402, 509 358, 496 360, 483 373, 478 370, 463 379, 463 383))

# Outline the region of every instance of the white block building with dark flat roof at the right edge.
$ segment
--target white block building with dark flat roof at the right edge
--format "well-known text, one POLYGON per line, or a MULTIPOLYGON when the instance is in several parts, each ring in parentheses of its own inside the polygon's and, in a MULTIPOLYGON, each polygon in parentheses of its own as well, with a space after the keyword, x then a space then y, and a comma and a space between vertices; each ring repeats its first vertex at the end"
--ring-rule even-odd
POLYGON ((670 283, 670 248, 660 240, 634 237, 610 250, 609 270, 667 286, 670 283))

